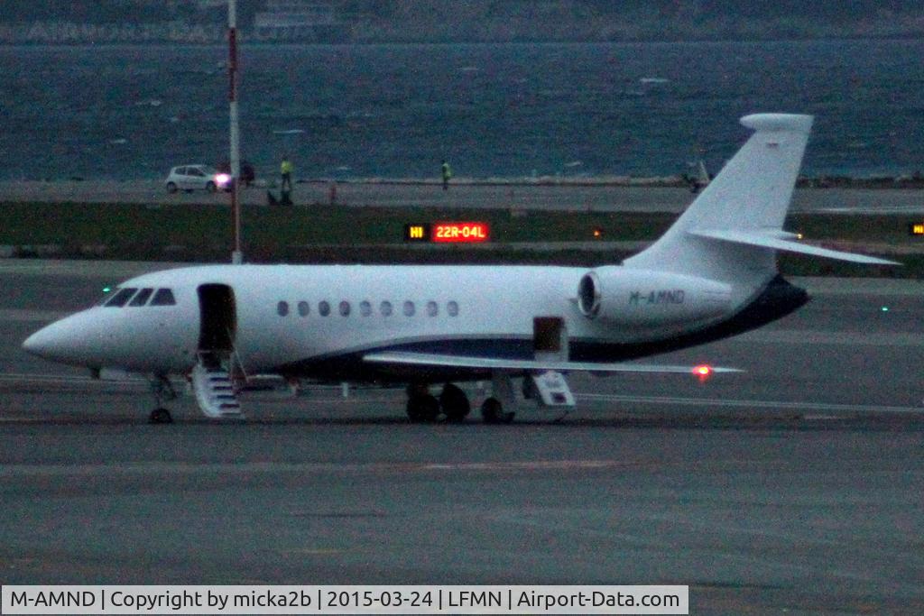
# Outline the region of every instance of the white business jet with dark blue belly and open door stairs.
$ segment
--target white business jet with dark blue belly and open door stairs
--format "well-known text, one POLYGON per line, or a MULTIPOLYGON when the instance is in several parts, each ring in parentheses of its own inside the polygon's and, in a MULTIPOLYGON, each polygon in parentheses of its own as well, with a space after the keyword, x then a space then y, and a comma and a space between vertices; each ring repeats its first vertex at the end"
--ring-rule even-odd
MULTIPOLYGON (((132 278, 96 307, 36 332, 38 356, 192 382, 202 412, 240 417, 248 374, 407 384, 407 415, 461 420, 456 384, 491 380, 488 422, 510 421, 514 379, 540 405, 573 406, 573 371, 690 372, 626 362, 779 319, 808 301, 776 268, 786 250, 893 264, 783 231, 812 118, 748 115, 755 133, 650 248, 574 267, 207 265, 132 278), (442 385, 439 398, 431 386, 442 385)), ((731 369, 731 368, 727 368, 731 369)), ((715 368, 719 371, 719 368, 715 368)), ((164 408, 152 421, 169 421, 164 408)))

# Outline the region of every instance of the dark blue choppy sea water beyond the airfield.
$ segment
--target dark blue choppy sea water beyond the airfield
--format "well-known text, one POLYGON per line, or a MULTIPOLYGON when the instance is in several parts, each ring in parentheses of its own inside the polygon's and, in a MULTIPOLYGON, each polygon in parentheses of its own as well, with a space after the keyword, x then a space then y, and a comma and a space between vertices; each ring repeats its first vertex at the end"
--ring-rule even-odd
MULTIPOLYGON (((924 170, 924 42, 249 45, 243 157, 298 177, 715 170, 738 117, 816 116, 807 175, 924 170)), ((0 47, 0 178, 227 159, 223 47, 0 47)))

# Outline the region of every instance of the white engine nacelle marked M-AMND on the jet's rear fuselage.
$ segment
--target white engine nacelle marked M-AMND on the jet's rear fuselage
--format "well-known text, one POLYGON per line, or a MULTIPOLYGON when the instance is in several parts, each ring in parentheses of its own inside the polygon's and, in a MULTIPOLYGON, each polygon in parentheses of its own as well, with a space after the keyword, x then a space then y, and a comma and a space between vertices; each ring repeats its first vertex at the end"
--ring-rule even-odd
POLYGON ((642 327, 720 317, 731 296, 728 284, 621 266, 588 272, 577 284, 577 308, 588 319, 642 327))

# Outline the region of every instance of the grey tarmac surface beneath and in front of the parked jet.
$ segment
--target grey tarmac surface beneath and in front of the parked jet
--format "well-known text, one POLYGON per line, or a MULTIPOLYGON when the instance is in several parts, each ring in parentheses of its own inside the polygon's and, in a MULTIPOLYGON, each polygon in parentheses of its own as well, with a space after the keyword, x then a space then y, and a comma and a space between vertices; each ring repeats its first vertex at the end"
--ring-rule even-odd
POLYGON ((91 381, 21 341, 139 263, 0 261, 0 581, 680 584, 691 613, 924 611, 924 284, 813 301, 578 409, 412 425, 400 390, 189 396, 91 381))

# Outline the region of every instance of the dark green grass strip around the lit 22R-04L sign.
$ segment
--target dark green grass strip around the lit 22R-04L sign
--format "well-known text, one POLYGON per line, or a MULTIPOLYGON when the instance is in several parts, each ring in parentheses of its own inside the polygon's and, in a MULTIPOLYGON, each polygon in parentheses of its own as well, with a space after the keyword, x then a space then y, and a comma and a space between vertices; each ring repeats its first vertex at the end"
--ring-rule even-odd
MULTIPOLYGON (((0 246, 8 256, 221 262, 231 245, 226 206, 95 203, 0 203, 0 246)), ((434 210, 424 208, 246 207, 244 254, 249 262, 314 263, 613 263, 627 248, 585 250, 563 242, 644 242, 676 218, 664 212, 434 210), (491 225, 489 247, 407 246, 407 223, 480 221, 491 225), (600 233, 596 237, 594 232, 600 233), (539 247, 517 247, 540 243, 539 247)), ((809 240, 877 246, 914 243, 907 215, 798 213, 787 230, 809 240)), ((924 242, 924 239, 921 240, 924 242)), ((924 249, 921 251, 924 253, 924 249)), ((924 277, 924 254, 894 258, 905 267, 854 266, 792 255, 793 275, 924 277)))

